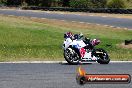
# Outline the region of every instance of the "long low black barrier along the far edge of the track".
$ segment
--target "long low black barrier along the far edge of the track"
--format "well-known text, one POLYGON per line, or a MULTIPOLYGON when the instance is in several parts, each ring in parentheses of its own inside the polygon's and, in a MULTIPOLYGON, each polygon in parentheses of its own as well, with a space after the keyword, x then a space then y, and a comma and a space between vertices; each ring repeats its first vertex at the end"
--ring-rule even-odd
POLYGON ((115 8, 68 8, 68 7, 22 7, 25 10, 44 10, 44 11, 70 11, 70 12, 90 12, 90 13, 120 13, 132 14, 132 9, 115 8))

